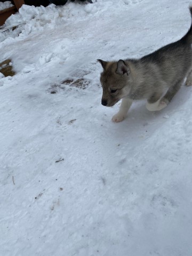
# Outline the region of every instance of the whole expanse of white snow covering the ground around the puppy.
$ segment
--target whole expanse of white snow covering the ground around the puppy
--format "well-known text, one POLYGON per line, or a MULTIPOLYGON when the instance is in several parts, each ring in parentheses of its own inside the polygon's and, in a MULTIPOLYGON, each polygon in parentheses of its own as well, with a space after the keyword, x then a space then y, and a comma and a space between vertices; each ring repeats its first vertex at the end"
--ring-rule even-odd
POLYGON ((68 1, 6 21, 0 62, 17 74, 0 79, 0 255, 192 255, 192 88, 113 123, 97 62, 176 41, 188 5, 68 1))

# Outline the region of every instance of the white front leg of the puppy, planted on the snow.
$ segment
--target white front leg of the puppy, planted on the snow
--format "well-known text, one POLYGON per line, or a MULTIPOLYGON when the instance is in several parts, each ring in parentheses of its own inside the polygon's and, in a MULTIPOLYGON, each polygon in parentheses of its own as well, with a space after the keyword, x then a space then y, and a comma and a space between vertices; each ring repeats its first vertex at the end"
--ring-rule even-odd
POLYGON ((120 109, 118 113, 113 116, 112 121, 116 123, 122 122, 127 114, 127 111, 131 107, 132 102, 133 101, 128 98, 123 98, 120 109))

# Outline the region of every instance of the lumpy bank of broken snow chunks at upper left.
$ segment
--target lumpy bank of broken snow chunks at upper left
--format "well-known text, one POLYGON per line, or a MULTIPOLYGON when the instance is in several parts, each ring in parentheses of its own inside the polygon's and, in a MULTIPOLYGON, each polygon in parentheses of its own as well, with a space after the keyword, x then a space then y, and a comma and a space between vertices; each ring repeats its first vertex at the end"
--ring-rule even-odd
POLYGON ((18 13, 11 15, 11 17, 5 21, 5 33, 0 35, 0 42, 4 41, 7 37, 14 38, 18 35, 20 39, 23 39, 36 31, 54 29, 69 21, 73 22, 79 17, 83 20, 94 12, 97 12, 97 7, 92 4, 76 4, 69 2, 63 6, 50 4, 47 7, 22 5, 18 13), (12 31, 12 27, 15 26, 17 26, 17 28, 12 31))

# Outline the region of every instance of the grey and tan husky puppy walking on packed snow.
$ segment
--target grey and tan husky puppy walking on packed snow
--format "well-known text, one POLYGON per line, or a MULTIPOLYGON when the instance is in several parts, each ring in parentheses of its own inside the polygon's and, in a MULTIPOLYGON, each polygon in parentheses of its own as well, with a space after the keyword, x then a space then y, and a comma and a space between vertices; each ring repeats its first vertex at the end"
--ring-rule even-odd
MULTIPOLYGON (((192 5, 189 7, 192 18, 192 5)), ((146 99, 149 111, 165 108, 187 77, 192 82, 192 21, 188 33, 179 41, 168 44, 141 59, 119 61, 98 60, 102 67, 101 104, 121 107, 112 121, 121 122, 134 100, 146 99)))

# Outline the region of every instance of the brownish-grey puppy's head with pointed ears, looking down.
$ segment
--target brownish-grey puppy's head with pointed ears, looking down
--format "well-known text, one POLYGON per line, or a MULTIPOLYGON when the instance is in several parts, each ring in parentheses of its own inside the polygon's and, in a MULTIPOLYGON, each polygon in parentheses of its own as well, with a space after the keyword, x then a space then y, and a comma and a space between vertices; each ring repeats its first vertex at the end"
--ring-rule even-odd
POLYGON ((101 104, 111 107, 126 97, 130 91, 130 67, 123 60, 118 62, 98 61, 103 67, 100 77, 103 89, 101 104))

